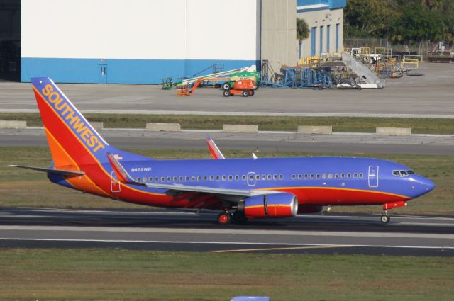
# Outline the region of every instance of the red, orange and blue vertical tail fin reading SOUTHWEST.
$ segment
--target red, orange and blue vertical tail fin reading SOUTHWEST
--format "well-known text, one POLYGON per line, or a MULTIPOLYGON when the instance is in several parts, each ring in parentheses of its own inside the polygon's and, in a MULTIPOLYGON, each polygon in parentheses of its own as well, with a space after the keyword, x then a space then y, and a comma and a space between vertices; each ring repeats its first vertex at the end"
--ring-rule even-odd
POLYGON ((81 164, 106 162, 111 147, 52 79, 38 77, 31 83, 55 167, 72 170, 81 164))

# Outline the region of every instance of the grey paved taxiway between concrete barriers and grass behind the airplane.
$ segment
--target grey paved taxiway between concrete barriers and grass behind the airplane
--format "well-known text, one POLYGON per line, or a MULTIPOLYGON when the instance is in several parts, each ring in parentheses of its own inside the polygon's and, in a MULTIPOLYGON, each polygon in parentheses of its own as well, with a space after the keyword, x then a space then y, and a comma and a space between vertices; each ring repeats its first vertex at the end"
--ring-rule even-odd
MULTIPOLYGON (((118 148, 204 149, 211 136, 222 149, 250 152, 315 152, 347 154, 453 154, 454 135, 385 137, 372 134, 301 135, 294 132, 259 134, 211 132, 147 132, 104 130, 101 135, 118 148)), ((47 146, 43 130, 0 130, 0 147, 47 146)))

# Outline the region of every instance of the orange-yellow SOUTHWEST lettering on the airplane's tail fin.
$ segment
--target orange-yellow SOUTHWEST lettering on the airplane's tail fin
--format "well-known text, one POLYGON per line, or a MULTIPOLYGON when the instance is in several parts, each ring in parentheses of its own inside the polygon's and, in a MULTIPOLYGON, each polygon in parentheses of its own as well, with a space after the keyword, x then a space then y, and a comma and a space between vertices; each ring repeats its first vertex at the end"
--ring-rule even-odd
POLYGON ((48 103, 55 108, 55 111, 60 113, 60 116, 65 119, 68 125, 72 127, 74 133, 79 136, 79 139, 84 142, 87 147, 97 152, 99 149, 104 149, 106 146, 99 141, 99 138, 94 135, 94 132, 86 125, 84 118, 74 111, 67 103, 65 98, 62 98, 58 91, 54 91, 51 84, 45 85, 41 90, 43 96, 47 96, 48 103))

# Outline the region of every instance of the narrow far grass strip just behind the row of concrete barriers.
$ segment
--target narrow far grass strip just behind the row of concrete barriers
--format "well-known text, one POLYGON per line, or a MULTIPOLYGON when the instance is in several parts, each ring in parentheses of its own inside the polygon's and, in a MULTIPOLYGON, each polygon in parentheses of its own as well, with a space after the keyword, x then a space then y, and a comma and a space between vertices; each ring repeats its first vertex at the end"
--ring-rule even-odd
MULTIPOLYGON (((84 114, 111 128, 145 128, 146 123, 179 123, 186 130, 222 130, 224 124, 258 125, 259 130, 296 131, 298 125, 331 125, 333 132, 375 132, 375 127, 411 127, 414 134, 454 134, 448 118, 362 118, 297 116, 84 114)), ((26 120, 41 126, 38 113, 0 113, 0 120, 26 120)))

